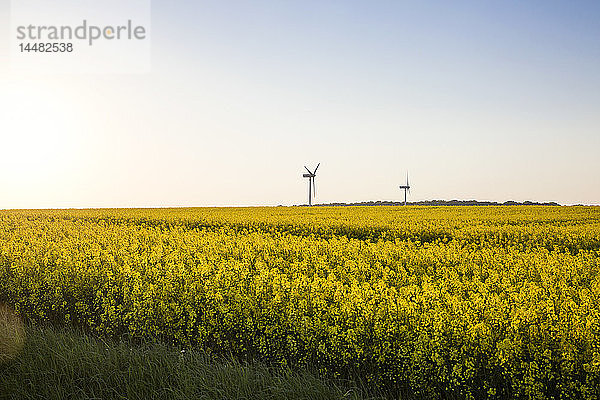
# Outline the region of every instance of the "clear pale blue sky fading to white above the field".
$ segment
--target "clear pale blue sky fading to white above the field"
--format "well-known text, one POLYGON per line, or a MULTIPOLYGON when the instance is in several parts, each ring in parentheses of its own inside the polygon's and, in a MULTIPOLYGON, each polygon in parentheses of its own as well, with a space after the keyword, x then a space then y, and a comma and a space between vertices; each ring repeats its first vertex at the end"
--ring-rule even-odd
POLYGON ((147 74, 9 70, 0 209, 600 204, 598 1, 152 1, 147 74))

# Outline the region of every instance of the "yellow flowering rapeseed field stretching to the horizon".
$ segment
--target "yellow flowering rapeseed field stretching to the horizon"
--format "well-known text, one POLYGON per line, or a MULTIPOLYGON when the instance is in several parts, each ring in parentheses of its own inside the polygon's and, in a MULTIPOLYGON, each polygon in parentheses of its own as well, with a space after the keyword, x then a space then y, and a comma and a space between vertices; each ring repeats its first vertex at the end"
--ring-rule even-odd
POLYGON ((0 211, 30 323, 429 398, 600 397, 600 208, 0 211))

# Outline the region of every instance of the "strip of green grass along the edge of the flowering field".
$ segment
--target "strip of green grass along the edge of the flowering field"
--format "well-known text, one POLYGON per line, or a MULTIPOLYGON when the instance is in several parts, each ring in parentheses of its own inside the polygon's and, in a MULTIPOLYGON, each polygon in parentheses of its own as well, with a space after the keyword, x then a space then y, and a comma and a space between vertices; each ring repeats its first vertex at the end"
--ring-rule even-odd
POLYGON ((73 329, 30 327, 26 334, 20 354, 0 363, 0 399, 375 398, 307 371, 161 343, 103 341, 73 329))

